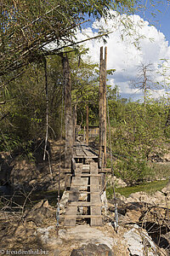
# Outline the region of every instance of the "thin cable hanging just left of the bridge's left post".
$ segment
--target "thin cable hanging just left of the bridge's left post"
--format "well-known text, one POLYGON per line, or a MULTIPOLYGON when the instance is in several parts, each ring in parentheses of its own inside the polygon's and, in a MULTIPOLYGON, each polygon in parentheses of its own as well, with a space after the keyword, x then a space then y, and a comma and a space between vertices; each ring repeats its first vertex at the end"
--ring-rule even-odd
POLYGON ((57 236, 59 235, 59 201, 60 201, 60 172, 61 172, 61 141, 62 141, 62 128, 63 128, 63 108, 64 108, 64 91, 65 84, 63 83, 62 88, 62 101, 61 101, 61 130, 60 130, 60 148, 59 148, 59 181, 58 181, 58 195, 57 195, 57 211, 56 211, 56 220, 57 220, 57 236))

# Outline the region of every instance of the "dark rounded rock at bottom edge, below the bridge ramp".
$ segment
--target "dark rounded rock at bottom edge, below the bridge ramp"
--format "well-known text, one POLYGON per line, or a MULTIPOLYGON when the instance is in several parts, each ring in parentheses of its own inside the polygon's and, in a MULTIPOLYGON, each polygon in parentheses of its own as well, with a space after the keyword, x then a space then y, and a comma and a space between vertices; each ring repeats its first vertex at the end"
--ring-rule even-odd
POLYGON ((73 249, 71 256, 113 256, 113 252, 105 244, 96 245, 94 243, 88 243, 78 249, 73 249))

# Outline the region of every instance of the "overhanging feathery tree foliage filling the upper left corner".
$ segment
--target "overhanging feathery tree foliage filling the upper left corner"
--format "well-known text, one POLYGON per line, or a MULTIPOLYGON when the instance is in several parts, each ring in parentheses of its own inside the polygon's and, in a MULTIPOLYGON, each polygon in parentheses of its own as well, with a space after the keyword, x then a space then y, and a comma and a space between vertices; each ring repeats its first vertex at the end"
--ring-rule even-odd
POLYGON ((0 75, 41 61, 50 55, 47 44, 57 44, 55 54, 65 45, 75 44, 77 27, 88 17, 107 17, 109 9, 132 9, 133 0, 115 3, 111 0, 49 0, 0 3, 0 75))

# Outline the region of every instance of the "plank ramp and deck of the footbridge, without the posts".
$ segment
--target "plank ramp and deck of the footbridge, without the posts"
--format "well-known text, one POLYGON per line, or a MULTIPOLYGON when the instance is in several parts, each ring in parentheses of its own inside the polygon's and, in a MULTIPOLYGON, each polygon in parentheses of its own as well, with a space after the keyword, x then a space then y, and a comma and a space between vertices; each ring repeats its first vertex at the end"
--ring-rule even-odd
POLYGON ((76 225, 80 218, 87 219, 92 226, 102 224, 102 176, 99 173, 98 161, 99 156, 86 144, 74 145, 65 226, 76 225))

